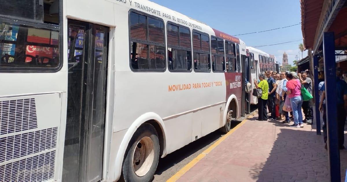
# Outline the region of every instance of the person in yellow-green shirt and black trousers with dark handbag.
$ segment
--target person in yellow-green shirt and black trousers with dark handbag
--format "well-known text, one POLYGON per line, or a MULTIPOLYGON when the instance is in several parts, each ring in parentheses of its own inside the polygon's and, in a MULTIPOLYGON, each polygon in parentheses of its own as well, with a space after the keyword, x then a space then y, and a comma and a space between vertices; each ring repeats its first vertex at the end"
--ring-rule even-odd
POLYGON ((254 80, 255 87, 260 88, 262 90, 262 96, 258 98, 258 120, 267 121, 268 115, 266 113, 266 104, 268 103, 269 84, 265 80, 265 75, 263 73, 259 74, 259 79, 259 83, 258 80, 254 80))

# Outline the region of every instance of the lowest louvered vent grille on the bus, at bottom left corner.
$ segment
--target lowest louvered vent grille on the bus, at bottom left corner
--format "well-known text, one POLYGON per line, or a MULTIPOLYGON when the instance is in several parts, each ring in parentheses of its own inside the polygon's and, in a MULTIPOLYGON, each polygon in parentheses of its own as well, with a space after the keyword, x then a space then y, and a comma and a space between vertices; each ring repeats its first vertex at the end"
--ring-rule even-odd
POLYGON ((56 152, 37 155, 0 166, 0 181, 46 181, 54 177, 56 152))

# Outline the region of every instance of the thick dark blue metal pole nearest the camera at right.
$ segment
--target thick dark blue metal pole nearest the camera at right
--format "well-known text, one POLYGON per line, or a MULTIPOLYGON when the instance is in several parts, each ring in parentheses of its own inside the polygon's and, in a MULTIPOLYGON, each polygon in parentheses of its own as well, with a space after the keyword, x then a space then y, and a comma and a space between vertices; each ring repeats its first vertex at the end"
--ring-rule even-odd
POLYGON ((333 32, 323 34, 325 96, 327 104, 328 156, 330 181, 340 181, 340 150, 337 137, 336 61, 333 32))

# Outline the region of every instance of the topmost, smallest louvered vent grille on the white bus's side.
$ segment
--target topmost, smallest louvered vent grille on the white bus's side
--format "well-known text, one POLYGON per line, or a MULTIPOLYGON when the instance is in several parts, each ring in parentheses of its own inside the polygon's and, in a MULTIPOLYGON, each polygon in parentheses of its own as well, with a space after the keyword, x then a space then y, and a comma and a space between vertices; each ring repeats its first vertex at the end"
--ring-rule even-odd
POLYGON ((37 128, 35 98, 0 101, 0 135, 37 128))

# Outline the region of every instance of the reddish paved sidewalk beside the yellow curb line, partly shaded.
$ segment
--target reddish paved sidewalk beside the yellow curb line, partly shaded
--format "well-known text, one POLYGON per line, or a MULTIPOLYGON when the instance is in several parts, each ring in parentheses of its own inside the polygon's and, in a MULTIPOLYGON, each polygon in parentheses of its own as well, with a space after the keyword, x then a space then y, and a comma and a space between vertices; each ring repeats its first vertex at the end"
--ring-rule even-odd
MULTIPOLYGON (((247 118, 178 181, 330 181, 328 152, 315 125, 290 128, 256 118, 257 113, 247 118)), ((340 156, 344 181, 347 150, 340 150, 340 156)))

